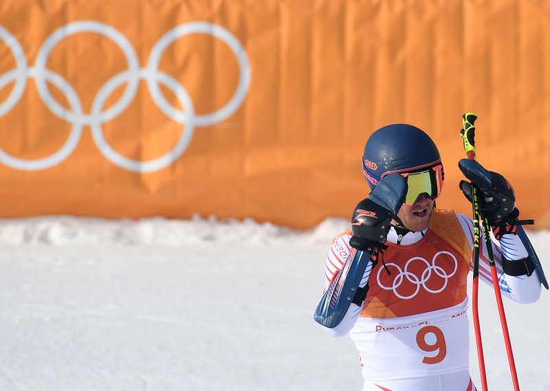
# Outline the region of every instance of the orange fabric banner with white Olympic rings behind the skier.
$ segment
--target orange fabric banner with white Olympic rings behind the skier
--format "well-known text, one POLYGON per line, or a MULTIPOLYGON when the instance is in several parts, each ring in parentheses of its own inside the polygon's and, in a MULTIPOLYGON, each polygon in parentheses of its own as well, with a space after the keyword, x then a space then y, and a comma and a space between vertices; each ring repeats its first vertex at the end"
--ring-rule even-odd
POLYGON ((296 228, 368 193, 389 123, 478 158, 550 227, 550 6, 540 2, 4 0, 0 215, 195 213, 296 228), (548 87, 548 88, 547 88, 548 87))

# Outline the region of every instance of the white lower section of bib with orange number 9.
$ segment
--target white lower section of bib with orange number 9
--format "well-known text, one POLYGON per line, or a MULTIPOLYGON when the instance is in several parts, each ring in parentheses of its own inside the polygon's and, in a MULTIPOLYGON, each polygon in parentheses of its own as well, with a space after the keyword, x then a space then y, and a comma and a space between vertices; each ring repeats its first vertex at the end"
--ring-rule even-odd
POLYGON ((467 370, 467 299, 419 315, 360 317, 351 329, 362 374, 370 381, 424 377, 467 370))

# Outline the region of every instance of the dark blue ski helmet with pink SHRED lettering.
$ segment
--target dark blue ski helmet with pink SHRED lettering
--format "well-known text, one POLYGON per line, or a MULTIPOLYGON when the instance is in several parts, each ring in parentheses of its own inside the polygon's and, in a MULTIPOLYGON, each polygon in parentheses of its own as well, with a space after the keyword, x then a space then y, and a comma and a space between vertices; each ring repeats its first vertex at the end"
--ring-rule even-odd
POLYGON ((419 171, 437 165, 441 165, 441 156, 430 136, 407 124, 378 129, 366 141, 363 152, 363 175, 371 189, 388 173, 419 171))

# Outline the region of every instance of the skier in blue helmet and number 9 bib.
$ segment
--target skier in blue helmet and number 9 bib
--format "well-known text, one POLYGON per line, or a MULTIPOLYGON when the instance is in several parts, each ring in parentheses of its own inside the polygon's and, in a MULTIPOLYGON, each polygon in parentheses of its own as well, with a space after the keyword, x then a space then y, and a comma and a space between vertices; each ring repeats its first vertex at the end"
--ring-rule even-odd
MULTIPOLYGON (((325 290, 333 279, 344 278, 338 272, 350 255, 368 251, 371 258, 345 315, 325 330, 334 337, 351 335, 364 391, 476 390, 468 371, 466 315, 474 226, 465 215, 435 209, 444 179, 439 151, 421 129, 388 125, 367 140, 362 160, 371 191, 396 178, 406 186, 397 214, 366 198, 355 208, 351 231, 333 240, 325 290)), ((493 253, 502 295, 519 303, 536 302, 540 279, 516 235, 514 191, 498 173, 490 173, 487 186, 472 173, 471 164, 465 167, 461 160, 459 167, 483 191, 483 212, 496 237, 493 253)), ((471 200, 470 182, 461 181, 460 187, 471 200)), ((483 246, 483 233, 480 242, 483 246)), ((480 255, 479 277, 492 286, 486 249, 480 255)), ((342 283, 332 286, 341 288, 342 283)))

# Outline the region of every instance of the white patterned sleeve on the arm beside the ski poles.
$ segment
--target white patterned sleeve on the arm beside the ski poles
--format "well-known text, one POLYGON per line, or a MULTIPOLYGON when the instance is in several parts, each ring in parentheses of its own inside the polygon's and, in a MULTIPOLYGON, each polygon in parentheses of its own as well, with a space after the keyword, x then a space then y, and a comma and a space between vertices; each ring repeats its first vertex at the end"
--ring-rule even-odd
MULTIPOLYGON (((470 244, 470 249, 472 249, 472 258, 470 259, 470 270, 472 270, 474 264, 474 222, 471 218, 460 213, 457 213, 456 217, 459 219, 470 244)), ((514 234, 506 234, 500 238, 500 242, 494 238, 491 242, 498 286, 502 295, 522 304, 536 302, 540 297, 540 281, 536 273, 531 273, 529 276, 507 275, 503 270, 503 262, 521 262, 522 259, 527 257, 527 250, 520 238, 514 234)), ((479 277, 485 284, 493 286, 483 230, 481 231, 480 246, 483 251, 479 255, 479 277)))

